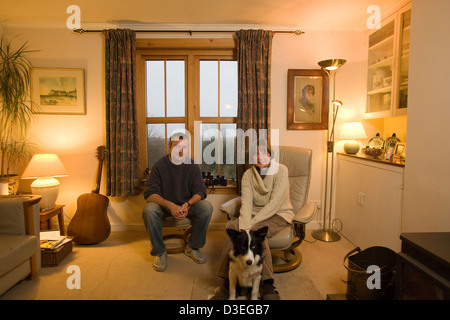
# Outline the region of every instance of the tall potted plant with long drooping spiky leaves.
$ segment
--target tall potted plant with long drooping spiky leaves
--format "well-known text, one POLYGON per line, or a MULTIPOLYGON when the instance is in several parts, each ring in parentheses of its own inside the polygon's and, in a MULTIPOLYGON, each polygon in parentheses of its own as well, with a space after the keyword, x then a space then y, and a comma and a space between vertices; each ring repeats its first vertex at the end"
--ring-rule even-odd
MULTIPOLYGON (((27 142, 27 132, 33 118, 28 99, 31 63, 25 56, 26 43, 13 49, 0 39, 0 184, 9 185, 9 193, 17 191, 19 176, 10 170, 26 164, 36 147, 27 142), (14 178, 14 176, 16 178, 14 178)), ((0 186, 1 189, 1 186, 0 186)))

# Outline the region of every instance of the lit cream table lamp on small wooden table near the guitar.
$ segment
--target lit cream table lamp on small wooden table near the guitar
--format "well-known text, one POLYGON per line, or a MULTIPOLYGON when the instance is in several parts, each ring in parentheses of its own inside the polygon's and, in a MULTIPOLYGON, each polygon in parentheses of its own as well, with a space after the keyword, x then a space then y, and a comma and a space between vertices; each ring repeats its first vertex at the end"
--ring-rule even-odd
POLYGON ((22 174, 22 179, 36 179, 31 192, 41 195, 41 211, 55 207, 59 193, 59 181, 55 177, 68 176, 66 168, 56 154, 35 154, 22 174))

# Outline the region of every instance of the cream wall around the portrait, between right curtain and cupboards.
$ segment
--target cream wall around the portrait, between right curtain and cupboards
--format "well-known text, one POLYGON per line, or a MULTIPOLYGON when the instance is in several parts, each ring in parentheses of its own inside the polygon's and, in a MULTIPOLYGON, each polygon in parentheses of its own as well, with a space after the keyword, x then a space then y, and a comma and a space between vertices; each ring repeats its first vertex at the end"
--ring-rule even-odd
MULTIPOLYGON (((342 151, 337 140, 344 121, 362 118, 365 104, 364 33, 360 31, 305 30, 298 36, 275 35, 272 54, 272 128, 280 130, 280 144, 310 148, 313 151, 310 202, 323 207, 326 164, 326 130, 287 130, 287 72, 288 69, 320 69, 318 62, 326 59, 346 59, 336 74, 336 98, 344 103, 336 123, 336 151, 342 151)), ((330 81, 330 87, 332 82, 330 81)), ((330 94, 331 98, 332 94, 330 94)), ((315 221, 323 220, 320 212, 315 221)), ((311 223, 309 228, 320 228, 311 223)))

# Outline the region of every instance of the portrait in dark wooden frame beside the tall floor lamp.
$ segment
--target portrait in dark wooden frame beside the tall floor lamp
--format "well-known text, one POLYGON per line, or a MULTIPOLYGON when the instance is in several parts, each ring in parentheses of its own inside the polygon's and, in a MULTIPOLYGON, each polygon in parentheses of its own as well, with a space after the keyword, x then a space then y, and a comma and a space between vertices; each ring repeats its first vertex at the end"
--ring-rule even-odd
POLYGON ((328 75, 322 69, 289 69, 288 130, 328 128, 328 75))

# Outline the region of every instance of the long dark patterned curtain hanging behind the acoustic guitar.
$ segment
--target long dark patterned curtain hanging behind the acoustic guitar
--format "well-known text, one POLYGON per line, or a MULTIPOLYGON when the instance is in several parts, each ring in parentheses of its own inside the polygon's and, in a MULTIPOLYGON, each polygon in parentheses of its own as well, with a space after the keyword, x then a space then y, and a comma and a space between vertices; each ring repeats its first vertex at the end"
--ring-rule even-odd
POLYGON ((138 194, 139 141, 136 112, 136 34, 104 30, 106 179, 108 196, 138 194))

